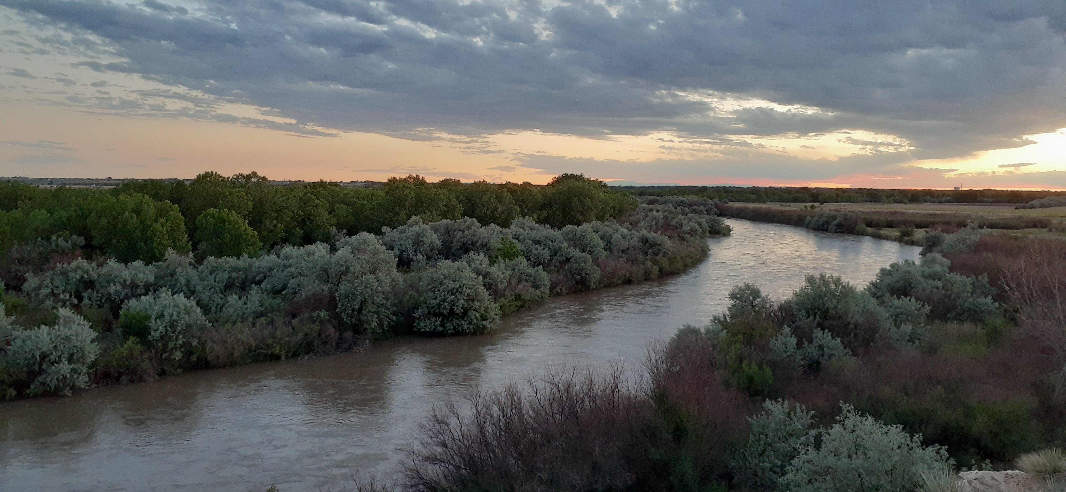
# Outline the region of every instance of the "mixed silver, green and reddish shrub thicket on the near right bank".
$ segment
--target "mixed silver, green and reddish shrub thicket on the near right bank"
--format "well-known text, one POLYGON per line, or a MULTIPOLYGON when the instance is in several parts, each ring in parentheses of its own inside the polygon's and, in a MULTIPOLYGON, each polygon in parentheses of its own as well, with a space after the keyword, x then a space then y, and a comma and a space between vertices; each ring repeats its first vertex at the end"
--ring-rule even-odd
POLYGON ((556 371, 474 393, 426 421, 400 486, 940 491, 956 466, 1019 456, 1062 473, 1066 242, 984 235, 950 255, 981 275, 928 253, 863 289, 812 275, 778 301, 738 285, 643 378, 556 371))

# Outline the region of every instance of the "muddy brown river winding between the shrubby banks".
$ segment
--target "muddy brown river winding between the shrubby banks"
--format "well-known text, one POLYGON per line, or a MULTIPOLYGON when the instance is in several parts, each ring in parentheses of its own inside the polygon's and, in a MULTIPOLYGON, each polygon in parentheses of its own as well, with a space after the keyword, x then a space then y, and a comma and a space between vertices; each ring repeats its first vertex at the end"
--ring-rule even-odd
POLYGON ((0 490, 344 490, 385 473, 437 401, 546 364, 639 365, 648 342, 706 323, 745 281, 788 296, 806 274, 865 284, 915 259, 888 241, 729 220, 708 260, 664 280, 553 298, 494 333, 203 371, 68 398, 0 404, 0 490))

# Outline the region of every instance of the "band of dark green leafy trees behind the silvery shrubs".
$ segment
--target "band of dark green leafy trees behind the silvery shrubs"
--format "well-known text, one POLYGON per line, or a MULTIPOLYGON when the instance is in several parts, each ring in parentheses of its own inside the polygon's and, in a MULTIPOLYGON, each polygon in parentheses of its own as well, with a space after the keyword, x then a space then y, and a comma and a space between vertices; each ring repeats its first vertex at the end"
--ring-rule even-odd
POLYGON ((430 183, 390 178, 376 187, 317 182, 277 185, 255 173, 204 173, 181 180, 129 181, 110 190, 44 190, 0 182, 0 276, 21 284, 27 268, 48 255, 52 237, 80 237, 90 257, 124 263, 163 259, 168 250, 198 258, 251 256, 280 245, 328 243, 334 231, 354 235, 423 220, 470 217, 503 228, 522 217, 554 228, 617 218, 637 200, 581 175, 547 185, 430 183), (45 244, 42 244, 45 243, 45 244))

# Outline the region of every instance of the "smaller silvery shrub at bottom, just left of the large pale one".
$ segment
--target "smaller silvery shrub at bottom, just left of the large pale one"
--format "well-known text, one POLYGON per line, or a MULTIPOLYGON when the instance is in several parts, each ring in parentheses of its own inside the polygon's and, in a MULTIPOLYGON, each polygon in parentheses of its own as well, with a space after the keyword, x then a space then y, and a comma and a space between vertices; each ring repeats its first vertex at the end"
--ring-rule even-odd
POLYGON ((785 400, 766 400, 762 407, 762 413, 748 419, 747 443, 730 468, 736 480, 749 489, 781 490, 780 480, 792 460, 814 444, 814 412, 785 400))

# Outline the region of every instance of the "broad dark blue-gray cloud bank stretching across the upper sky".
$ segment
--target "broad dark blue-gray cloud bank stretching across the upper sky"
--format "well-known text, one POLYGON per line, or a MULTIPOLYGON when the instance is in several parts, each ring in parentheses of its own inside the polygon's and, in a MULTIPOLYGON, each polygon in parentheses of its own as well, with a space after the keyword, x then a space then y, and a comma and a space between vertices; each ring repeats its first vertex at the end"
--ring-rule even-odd
MULTIPOLYGON (((297 126, 726 140, 863 129, 908 140, 918 158, 1017 147, 1066 127, 1061 0, 0 5, 100 36, 123 60, 84 66, 270 108, 297 126), (720 111, 680 94, 701 92, 815 110, 720 111)), ((893 142, 856 145, 901 153, 893 142)))

